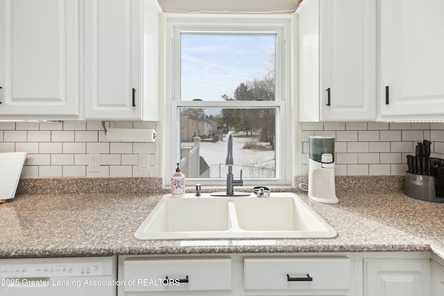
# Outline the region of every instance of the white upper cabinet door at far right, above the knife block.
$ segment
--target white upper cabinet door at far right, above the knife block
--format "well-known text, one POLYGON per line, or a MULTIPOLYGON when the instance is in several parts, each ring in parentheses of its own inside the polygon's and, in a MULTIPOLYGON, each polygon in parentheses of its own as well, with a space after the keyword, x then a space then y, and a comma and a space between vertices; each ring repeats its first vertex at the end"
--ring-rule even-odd
POLYGON ((444 1, 377 5, 378 120, 443 120, 444 1))

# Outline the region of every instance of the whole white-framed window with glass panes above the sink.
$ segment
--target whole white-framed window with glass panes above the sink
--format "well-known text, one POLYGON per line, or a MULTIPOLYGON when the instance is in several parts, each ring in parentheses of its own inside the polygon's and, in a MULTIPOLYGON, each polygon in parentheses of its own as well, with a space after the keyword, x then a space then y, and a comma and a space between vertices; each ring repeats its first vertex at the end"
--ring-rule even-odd
POLYGON ((167 19, 166 183, 180 162, 187 184, 223 184, 228 132, 236 178, 290 183, 289 26, 290 17, 167 19))

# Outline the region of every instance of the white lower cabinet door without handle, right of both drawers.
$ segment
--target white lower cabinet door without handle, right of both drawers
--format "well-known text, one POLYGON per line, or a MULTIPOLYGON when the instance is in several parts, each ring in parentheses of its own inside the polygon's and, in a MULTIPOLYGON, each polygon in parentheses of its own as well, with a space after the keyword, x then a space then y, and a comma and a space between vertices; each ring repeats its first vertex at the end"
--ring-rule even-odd
POLYGON ((364 296, 430 295, 429 259, 365 259, 364 296))

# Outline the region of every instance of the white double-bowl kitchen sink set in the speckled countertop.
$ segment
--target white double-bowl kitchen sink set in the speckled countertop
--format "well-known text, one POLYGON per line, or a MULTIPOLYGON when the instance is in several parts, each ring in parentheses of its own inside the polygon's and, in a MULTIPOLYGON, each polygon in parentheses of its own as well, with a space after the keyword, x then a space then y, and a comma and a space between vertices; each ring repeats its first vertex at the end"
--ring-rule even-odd
POLYGON ((333 238, 336 231, 294 193, 220 197, 164 195, 135 238, 333 238))

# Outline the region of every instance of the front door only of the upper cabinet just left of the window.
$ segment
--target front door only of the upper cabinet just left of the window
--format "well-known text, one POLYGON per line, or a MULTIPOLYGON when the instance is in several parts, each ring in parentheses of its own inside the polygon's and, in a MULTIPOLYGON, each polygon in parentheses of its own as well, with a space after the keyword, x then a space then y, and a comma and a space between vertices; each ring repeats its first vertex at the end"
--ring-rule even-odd
POLYGON ((140 119, 142 1, 85 1, 86 119, 140 119))

